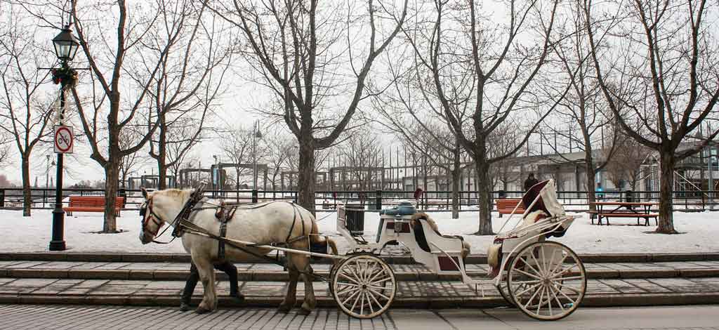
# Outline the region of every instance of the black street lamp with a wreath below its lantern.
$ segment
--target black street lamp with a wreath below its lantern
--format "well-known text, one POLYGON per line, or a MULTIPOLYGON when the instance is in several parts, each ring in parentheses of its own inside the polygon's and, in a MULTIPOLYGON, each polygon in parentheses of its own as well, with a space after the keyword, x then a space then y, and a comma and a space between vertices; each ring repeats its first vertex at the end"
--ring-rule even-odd
MULTIPOLYGON (((60 121, 65 119, 65 89, 77 81, 77 73, 70 68, 70 63, 78 52, 80 42, 73 35, 70 24, 52 38, 55 55, 60 60, 60 68, 52 69, 52 82, 60 84, 60 121)), ((63 153, 58 152, 57 173, 55 174, 55 209, 52 210, 52 240, 50 251, 65 250, 65 211, 63 210, 63 153)))

